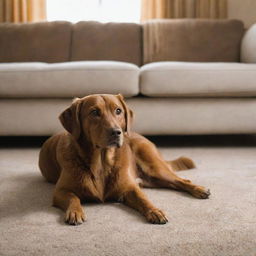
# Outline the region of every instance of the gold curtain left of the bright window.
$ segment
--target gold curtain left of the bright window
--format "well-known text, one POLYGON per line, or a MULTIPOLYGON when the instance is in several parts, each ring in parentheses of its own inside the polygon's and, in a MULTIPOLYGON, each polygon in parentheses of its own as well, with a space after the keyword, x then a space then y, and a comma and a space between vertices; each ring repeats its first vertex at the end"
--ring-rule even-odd
POLYGON ((46 0, 0 0, 0 22, 46 20, 46 0))

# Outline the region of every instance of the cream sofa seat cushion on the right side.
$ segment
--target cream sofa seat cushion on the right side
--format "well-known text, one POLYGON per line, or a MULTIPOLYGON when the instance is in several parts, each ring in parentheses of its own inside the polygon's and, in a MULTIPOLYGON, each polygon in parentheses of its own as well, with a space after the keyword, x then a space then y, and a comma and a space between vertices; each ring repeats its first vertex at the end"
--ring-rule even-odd
POLYGON ((150 97, 256 96, 256 64, 157 62, 141 68, 140 90, 150 97))

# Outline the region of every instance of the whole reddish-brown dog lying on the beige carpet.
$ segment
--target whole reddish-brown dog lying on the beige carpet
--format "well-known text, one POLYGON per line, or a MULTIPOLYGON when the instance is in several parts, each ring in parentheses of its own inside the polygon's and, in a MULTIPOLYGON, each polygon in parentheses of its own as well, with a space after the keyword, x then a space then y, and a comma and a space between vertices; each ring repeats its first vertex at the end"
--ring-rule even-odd
POLYGON ((66 222, 85 221, 81 201, 116 200, 138 210, 154 224, 165 224, 164 213, 140 189, 165 187, 208 198, 209 190, 179 178, 174 170, 190 169, 182 157, 166 162, 154 144, 130 131, 132 111, 121 95, 77 98, 59 117, 68 132, 43 145, 39 166, 56 183, 53 204, 66 212, 66 222))

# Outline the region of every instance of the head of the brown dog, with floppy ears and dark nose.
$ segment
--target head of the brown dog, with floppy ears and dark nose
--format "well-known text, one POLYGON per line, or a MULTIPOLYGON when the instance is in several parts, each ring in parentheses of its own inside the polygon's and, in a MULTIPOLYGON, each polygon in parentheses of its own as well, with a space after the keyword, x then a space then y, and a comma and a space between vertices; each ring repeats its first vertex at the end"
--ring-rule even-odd
POLYGON ((122 146, 132 116, 121 94, 95 94, 76 98, 59 119, 76 140, 86 138, 96 147, 107 148, 122 146))

